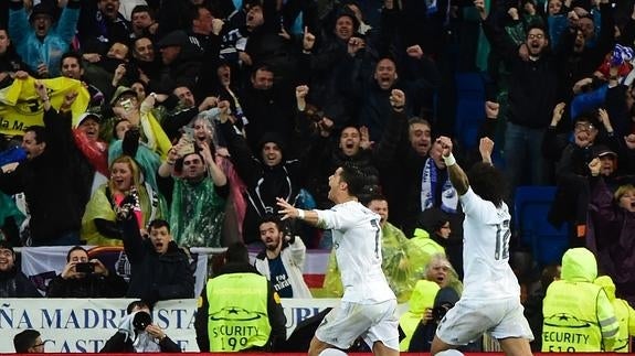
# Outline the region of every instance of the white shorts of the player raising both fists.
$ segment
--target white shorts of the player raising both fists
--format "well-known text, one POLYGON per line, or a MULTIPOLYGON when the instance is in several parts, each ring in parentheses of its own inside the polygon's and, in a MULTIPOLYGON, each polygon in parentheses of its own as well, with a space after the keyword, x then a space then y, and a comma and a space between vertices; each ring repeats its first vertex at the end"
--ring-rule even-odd
POLYGON ((447 311, 436 330, 436 336, 449 345, 466 345, 484 333, 500 339, 522 337, 533 339, 523 308, 517 298, 504 300, 459 300, 447 311))

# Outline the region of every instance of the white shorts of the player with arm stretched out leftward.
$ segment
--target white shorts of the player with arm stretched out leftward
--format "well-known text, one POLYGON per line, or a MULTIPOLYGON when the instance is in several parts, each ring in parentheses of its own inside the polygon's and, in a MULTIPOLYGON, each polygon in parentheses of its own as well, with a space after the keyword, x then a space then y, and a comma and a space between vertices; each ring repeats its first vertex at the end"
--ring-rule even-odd
POLYGON ((399 350, 396 300, 377 304, 341 302, 322 320, 316 337, 338 348, 347 349, 361 336, 372 349, 374 342, 399 350))

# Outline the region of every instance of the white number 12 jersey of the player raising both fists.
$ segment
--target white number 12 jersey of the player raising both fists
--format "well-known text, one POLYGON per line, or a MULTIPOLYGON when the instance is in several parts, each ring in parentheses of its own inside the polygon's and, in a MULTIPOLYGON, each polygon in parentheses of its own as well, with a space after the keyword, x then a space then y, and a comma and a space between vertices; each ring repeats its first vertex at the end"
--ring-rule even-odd
POLYGON ((463 222, 462 299, 506 299, 520 295, 509 266, 510 215, 505 203, 497 208, 472 187, 459 197, 463 222))

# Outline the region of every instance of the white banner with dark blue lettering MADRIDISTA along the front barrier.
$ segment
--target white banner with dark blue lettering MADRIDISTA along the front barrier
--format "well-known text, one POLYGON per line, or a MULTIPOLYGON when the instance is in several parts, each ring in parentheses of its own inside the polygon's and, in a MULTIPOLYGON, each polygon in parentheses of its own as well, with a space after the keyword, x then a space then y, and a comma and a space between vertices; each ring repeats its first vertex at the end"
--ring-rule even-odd
MULTIPOLYGON (((0 302, 0 353, 13 353, 13 336, 34 328, 47 353, 98 353, 116 332, 129 299, 6 299, 0 302)), ((338 299, 283 299, 287 335, 296 325, 338 299)), ((154 323, 181 346, 198 352, 194 331, 197 300, 162 301, 152 311, 154 323)))

